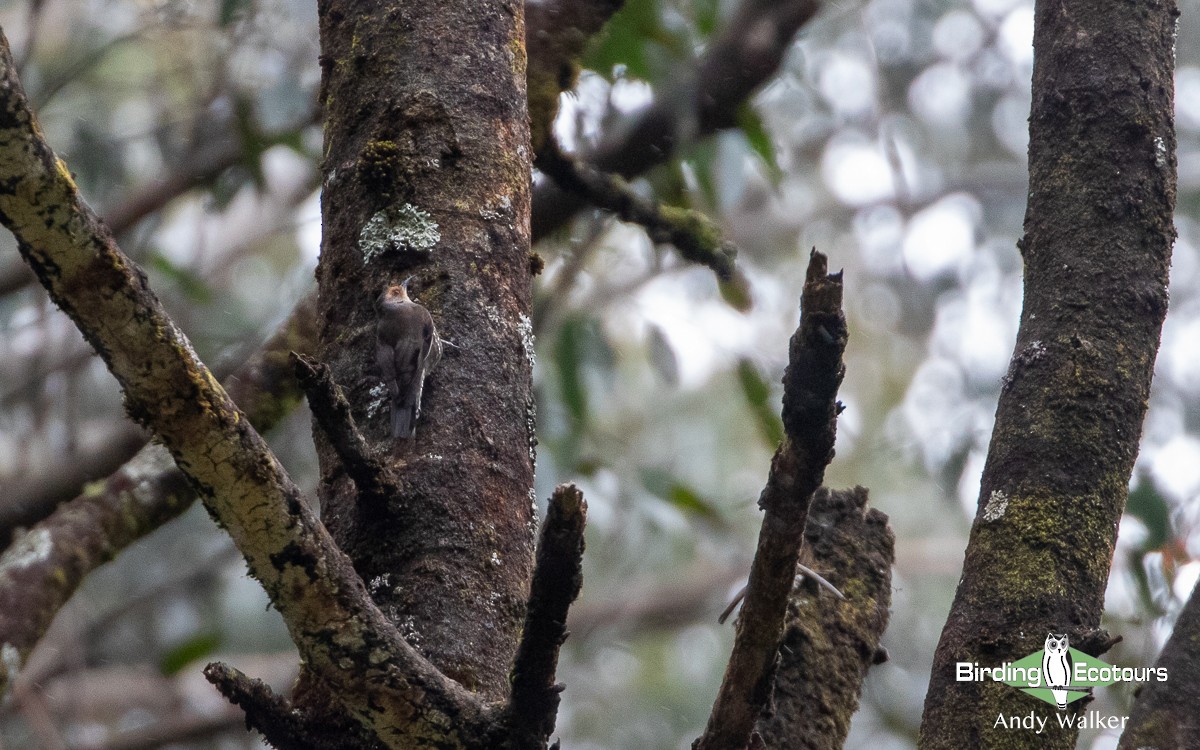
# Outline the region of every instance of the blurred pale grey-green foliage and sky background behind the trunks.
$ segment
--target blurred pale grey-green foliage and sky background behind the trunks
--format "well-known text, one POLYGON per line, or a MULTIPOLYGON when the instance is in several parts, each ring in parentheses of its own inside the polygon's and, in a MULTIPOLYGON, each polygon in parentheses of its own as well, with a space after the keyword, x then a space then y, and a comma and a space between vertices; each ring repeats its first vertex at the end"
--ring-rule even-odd
MULTIPOLYGON (((562 142, 586 150, 670 90, 734 6, 626 0, 563 97, 562 142)), ((1105 659, 1126 666, 1152 664, 1200 571, 1200 2, 1181 10, 1171 308, 1106 601, 1124 640, 1105 659)), ((200 356, 235 367, 313 287, 314 4, 34 0, 0 2, 0 24, 89 203, 200 356)), ((866 680, 848 746, 914 745, 1021 305, 1032 30, 1027 0, 835 0, 739 128, 636 181, 719 222, 750 280, 746 312, 710 271, 600 212, 538 247, 538 494, 574 480, 590 509, 564 746, 685 749, 703 727, 811 247, 845 269, 851 330, 827 484, 869 487, 896 533, 892 659, 866 680)), ((270 439, 313 488, 307 413, 270 439)), ((142 440, 4 233, 0 505, 73 497, 142 440)), ((0 706, 0 748, 258 746, 200 677, 214 659, 277 686, 295 668, 282 622, 197 508, 76 595, 0 706)), ((1102 689, 1096 708, 1126 714, 1130 697, 1102 689)))

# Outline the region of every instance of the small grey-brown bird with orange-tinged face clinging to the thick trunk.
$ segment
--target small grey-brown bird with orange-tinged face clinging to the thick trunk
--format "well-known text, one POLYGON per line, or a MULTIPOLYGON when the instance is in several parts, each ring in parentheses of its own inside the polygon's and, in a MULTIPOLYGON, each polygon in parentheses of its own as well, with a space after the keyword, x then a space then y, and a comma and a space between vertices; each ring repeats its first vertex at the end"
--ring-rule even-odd
POLYGON ((421 416, 425 378, 442 359, 433 316, 408 296, 409 276, 376 300, 376 362, 391 395, 391 437, 412 438, 421 416))

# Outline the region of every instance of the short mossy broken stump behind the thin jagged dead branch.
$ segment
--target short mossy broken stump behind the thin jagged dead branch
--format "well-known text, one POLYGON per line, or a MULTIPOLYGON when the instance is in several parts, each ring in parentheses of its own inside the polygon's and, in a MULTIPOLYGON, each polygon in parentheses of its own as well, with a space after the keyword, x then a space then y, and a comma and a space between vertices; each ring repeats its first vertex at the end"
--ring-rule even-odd
POLYGON ((841 748, 858 710, 866 671, 887 659, 880 646, 892 606, 895 536, 888 517, 866 508, 866 490, 818 490, 804 528, 812 569, 846 595, 815 581, 787 607, 779 670, 757 730, 768 748, 841 748))

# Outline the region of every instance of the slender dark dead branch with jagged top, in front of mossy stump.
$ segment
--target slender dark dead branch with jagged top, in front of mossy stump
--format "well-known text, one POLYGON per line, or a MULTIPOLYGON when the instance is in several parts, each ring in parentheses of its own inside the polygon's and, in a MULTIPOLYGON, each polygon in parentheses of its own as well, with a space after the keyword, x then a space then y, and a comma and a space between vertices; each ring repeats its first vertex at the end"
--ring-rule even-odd
POLYGON ((826 257, 814 250, 784 373, 785 438, 758 498, 762 529, 733 653, 696 750, 744 749, 770 694, 809 502, 833 458, 841 408, 835 398, 845 374, 846 318, 841 272, 827 271, 826 257))

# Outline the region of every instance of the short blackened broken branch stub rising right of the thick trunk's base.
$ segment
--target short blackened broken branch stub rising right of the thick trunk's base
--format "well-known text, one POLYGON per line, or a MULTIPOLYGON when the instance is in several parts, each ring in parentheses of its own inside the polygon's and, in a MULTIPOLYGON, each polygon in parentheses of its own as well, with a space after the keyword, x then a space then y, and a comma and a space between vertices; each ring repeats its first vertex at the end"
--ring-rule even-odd
POLYGON ((558 648, 566 640, 566 611, 583 584, 583 524, 588 504, 575 485, 559 485, 541 527, 521 643, 512 664, 506 709, 511 748, 546 746, 563 686, 554 683, 558 648))

